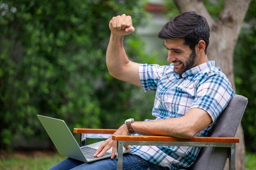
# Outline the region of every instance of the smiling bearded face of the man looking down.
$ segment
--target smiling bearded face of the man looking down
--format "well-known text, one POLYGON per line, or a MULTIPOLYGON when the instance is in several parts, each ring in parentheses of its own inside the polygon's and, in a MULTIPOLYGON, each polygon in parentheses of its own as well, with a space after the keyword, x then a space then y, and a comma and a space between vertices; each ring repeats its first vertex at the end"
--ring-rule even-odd
POLYGON ((166 39, 164 42, 168 49, 168 62, 173 62, 174 72, 182 75, 185 71, 198 66, 198 55, 195 50, 184 45, 183 39, 166 39))

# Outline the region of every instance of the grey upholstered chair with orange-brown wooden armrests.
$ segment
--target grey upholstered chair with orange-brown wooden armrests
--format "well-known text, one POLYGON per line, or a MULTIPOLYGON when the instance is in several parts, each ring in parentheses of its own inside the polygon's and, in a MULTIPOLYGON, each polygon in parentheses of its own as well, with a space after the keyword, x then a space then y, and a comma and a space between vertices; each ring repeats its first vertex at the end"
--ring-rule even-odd
MULTIPOLYGON (((213 127, 210 137, 193 137, 191 139, 181 139, 166 136, 116 136, 112 139, 118 143, 118 170, 123 166, 123 153, 125 145, 155 145, 155 146, 202 146, 195 163, 188 170, 223 170, 227 157, 229 157, 229 170, 236 169, 235 152, 236 131, 243 117, 248 99, 241 95, 234 95, 228 106, 223 110, 213 127)), ((86 137, 95 137, 90 134, 113 134, 114 129, 84 129, 74 128, 75 133, 81 133, 81 145, 86 137), (85 133, 85 135, 83 135, 85 133)))

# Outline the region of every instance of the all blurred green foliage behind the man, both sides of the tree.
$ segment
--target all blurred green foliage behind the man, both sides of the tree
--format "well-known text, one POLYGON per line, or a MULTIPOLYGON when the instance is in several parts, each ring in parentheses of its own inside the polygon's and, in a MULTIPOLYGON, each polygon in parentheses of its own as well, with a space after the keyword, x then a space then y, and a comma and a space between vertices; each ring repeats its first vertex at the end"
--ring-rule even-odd
MULTIPOLYGON (((222 1, 220 1, 222 2, 222 1)), ((105 55, 108 22, 126 13, 135 28, 148 23, 144 0, 0 1, 0 149, 22 134, 48 138, 36 114, 64 119, 70 129, 118 128, 151 118, 154 92, 114 79, 105 55)), ((173 4, 168 4, 170 7, 173 4)), ((211 15, 218 15, 208 3, 211 15), (211 12, 212 11, 212 12, 211 12)), ((177 9, 166 15, 176 15, 177 9), (175 11, 176 10, 176 11, 175 11)), ((235 51, 236 92, 249 98, 242 120, 247 150, 256 152, 256 2, 235 51)), ((135 33, 125 38, 131 60, 162 63, 135 33)))

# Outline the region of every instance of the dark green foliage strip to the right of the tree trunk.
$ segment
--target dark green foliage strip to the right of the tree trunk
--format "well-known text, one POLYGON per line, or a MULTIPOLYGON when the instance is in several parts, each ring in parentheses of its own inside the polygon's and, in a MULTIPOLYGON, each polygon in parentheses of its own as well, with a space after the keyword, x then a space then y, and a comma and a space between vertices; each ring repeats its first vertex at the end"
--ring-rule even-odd
POLYGON ((252 0, 234 53, 236 93, 248 98, 242 125, 246 150, 256 152, 256 0, 252 0))

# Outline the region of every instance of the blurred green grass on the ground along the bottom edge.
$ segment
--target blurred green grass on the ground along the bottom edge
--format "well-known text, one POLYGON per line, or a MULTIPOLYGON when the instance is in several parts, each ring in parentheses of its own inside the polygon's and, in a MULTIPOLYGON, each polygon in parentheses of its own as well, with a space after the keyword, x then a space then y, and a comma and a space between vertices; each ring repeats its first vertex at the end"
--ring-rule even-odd
MULTIPOLYGON (((33 151, 0 153, 0 170, 46 170, 65 157, 56 152, 33 151)), ((246 153, 246 170, 256 170, 256 153, 246 153)))

